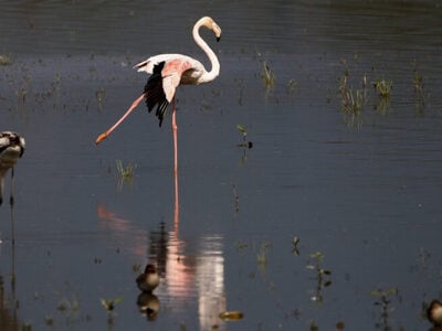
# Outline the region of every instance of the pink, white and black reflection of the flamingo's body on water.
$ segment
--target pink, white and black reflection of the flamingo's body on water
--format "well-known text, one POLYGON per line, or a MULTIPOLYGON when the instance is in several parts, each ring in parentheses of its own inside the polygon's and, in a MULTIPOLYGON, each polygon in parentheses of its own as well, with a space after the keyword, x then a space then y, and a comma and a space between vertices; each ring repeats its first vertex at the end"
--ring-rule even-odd
POLYGON ((148 259, 158 265, 160 296, 173 298, 175 311, 186 311, 189 299, 197 297, 200 329, 224 330, 219 319, 225 311, 223 238, 201 237, 193 250, 192 242, 181 239, 175 228, 167 232, 161 223, 149 235, 148 259))

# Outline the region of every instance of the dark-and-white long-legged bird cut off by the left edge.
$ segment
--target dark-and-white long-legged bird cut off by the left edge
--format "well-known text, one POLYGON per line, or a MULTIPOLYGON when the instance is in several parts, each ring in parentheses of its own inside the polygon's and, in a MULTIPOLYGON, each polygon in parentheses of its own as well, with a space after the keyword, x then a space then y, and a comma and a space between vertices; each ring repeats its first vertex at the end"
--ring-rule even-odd
POLYGON ((0 132, 0 204, 3 202, 4 175, 11 169, 11 199, 13 204, 13 167, 23 156, 24 138, 12 131, 0 132))

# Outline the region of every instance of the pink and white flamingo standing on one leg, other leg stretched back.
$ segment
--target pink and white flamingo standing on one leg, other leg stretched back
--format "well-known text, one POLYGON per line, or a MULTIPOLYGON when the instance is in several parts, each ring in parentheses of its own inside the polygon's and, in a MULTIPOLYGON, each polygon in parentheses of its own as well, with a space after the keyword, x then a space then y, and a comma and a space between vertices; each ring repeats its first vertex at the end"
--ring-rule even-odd
POLYGON ((175 92, 180 84, 199 85, 209 83, 218 77, 220 73, 220 63, 217 55, 209 45, 201 39, 199 30, 204 26, 212 30, 217 36, 217 41, 221 38, 221 28, 209 17, 203 17, 194 24, 192 35, 194 42, 208 55, 211 70, 208 72, 204 66, 197 60, 182 54, 159 54, 151 56, 134 66, 138 72, 150 74, 144 93, 136 98, 126 113, 113 125, 107 131, 101 134, 95 143, 98 145, 106 139, 110 132, 144 100, 149 113, 157 106, 156 117, 161 127, 162 119, 167 107, 172 104, 172 131, 173 131, 173 171, 178 171, 178 152, 177 152, 177 121, 175 109, 175 92))

